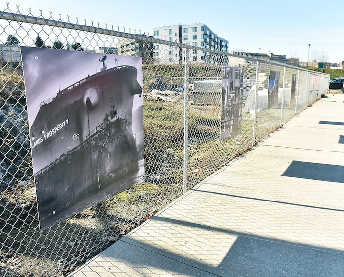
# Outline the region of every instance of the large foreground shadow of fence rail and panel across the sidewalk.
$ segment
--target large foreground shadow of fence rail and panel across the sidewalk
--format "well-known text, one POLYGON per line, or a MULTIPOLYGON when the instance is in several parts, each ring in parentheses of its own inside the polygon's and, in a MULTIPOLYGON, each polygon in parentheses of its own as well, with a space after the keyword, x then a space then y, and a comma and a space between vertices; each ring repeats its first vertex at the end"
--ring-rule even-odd
MULTIPOLYGON (((250 235, 226 228, 154 216, 151 220, 173 225, 205 229, 236 236, 235 242, 217 266, 207 263, 206 253, 176 253, 147 241, 125 237, 102 252, 101 258, 90 261, 72 276, 91 273, 135 272, 184 274, 187 276, 341 276, 344 273, 343 251, 295 243, 271 237, 250 235), (135 253, 135 254, 134 254, 135 253), (204 260, 202 259, 204 257, 204 260)), ((207 237, 204 237, 206 244, 207 237)), ((214 243, 212 242, 212 245, 214 243)), ((221 253, 219 252, 219 255, 221 253)))

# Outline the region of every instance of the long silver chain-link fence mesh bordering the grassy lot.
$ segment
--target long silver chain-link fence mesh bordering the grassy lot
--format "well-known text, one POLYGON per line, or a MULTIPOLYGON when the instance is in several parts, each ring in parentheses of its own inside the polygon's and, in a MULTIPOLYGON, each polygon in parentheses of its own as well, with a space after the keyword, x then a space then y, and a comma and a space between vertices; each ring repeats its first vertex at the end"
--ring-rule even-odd
POLYGON ((113 26, 36 16, 31 11, 23 15, 17 8, 0 12, 1 276, 70 272, 248 150, 328 88, 326 74, 121 32, 113 26), (43 231, 38 228, 19 46, 143 59, 145 182, 43 231), (243 90, 240 132, 222 143, 224 66, 243 68, 243 90), (273 105, 268 100, 271 76, 278 80, 273 105))

